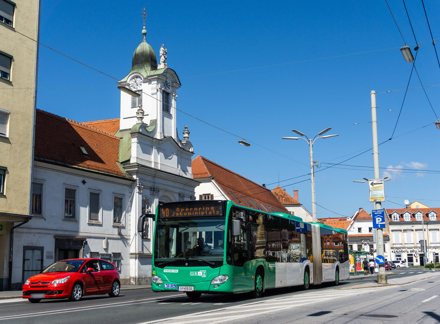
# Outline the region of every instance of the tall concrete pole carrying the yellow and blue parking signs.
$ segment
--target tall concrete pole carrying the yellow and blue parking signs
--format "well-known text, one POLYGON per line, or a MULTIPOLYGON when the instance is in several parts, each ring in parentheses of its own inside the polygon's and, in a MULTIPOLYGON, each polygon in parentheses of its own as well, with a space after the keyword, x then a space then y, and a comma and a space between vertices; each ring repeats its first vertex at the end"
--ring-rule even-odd
MULTIPOLYGON (((374 179, 379 179, 379 146, 378 146, 378 120, 376 118, 376 92, 371 90, 371 125, 373 127, 373 165, 374 179)), ((382 209, 380 201, 374 202, 374 209, 382 209)), ((376 232, 377 254, 384 255, 384 234, 382 228, 376 232)), ((378 284, 388 284, 388 276, 385 274, 385 264, 379 265, 378 284)))

